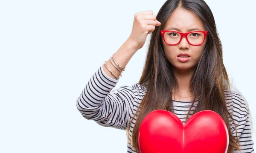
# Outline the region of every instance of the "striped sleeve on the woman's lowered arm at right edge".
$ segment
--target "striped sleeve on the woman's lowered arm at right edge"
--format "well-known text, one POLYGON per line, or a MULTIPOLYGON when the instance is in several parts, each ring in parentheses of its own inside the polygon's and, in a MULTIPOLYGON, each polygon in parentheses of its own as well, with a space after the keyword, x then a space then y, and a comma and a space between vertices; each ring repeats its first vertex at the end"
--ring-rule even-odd
MULTIPOLYGON (((234 153, 254 153, 253 134, 251 130, 250 110, 243 96, 233 93, 233 118, 236 123, 237 135, 239 137, 240 151, 234 153)), ((233 136, 236 130, 233 128, 233 136)))

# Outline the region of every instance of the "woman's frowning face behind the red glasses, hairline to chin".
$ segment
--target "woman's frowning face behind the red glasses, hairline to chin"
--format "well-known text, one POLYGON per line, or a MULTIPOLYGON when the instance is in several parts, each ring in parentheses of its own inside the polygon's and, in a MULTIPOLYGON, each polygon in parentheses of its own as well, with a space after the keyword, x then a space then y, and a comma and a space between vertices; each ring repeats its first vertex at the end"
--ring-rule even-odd
MULTIPOLYGON (((200 18, 192 11, 179 8, 172 12, 163 27, 163 30, 173 30, 186 33, 192 31, 206 31, 206 28, 200 18)), ((172 35, 176 36, 176 34, 172 35)), ((189 34, 188 37, 190 35, 192 34, 189 34)), ((195 34, 192 36, 195 36, 195 34)), ((201 58, 207 38, 204 40, 204 43, 199 46, 190 45, 185 37, 181 39, 180 43, 174 46, 166 44, 163 41, 163 37, 162 42, 166 58, 176 70, 192 70, 201 58), (180 53, 186 53, 190 57, 180 57, 180 53)))

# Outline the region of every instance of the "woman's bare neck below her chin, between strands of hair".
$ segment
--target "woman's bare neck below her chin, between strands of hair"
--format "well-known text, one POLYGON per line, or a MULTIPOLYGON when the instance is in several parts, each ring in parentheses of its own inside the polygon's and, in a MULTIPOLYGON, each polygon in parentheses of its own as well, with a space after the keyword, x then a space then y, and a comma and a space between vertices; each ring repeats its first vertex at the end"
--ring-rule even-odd
POLYGON ((173 69, 175 77, 178 81, 177 91, 189 91, 189 84, 194 73, 194 69, 183 70, 183 69, 173 69))

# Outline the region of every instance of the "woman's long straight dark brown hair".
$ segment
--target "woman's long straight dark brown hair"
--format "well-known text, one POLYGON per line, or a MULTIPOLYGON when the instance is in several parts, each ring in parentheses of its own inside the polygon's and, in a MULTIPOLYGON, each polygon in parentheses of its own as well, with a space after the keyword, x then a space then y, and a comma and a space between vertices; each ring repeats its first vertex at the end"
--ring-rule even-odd
MULTIPOLYGON (((177 87, 177 79, 172 71, 172 64, 167 60, 160 30, 165 26, 170 14, 177 8, 183 8, 194 12, 204 23, 208 31, 208 40, 200 61, 195 66, 195 71, 190 81, 190 90, 194 95, 194 100, 186 120, 193 114, 202 110, 212 110, 221 115, 227 124, 229 131, 228 153, 233 153, 234 149, 239 149, 237 137, 233 137, 230 128, 229 117, 233 121, 232 115, 228 112, 225 100, 225 89, 230 89, 229 78, 223 64, 222 45, 218 36, 215 20, 209 6, 204 0, 167 0, 157 14, 157 20, 161 22, 151 34, 145 66, 139 84, 147 87, 145 96, 134 116, 137 119, 131 136, 131 145, 135 150, 139 150, 137 134, 140 123, 148 113, 153 110, 168 110, 174 113, 172 105, 172 89, 177 87), (198 104, 193 113, 192 106, 195 100, 198 104)), ((132 118, 127 133, 131 127, 132 118)), ((234 121, 233 121, 234 123, 234 121)))

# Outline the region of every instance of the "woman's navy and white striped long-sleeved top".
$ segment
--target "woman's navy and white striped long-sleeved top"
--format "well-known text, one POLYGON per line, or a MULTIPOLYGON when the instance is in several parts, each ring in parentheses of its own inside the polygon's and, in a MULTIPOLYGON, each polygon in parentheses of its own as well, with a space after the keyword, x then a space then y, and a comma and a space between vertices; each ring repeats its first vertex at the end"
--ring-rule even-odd
MULTIPOLYGON (((118 89, 113 89, 119 79, 113 79, 106 75, 103 71, 103 65, 96 70, 77 98, 77 109, 84 118, 94 120, 101 126, 126 130, 147 89, 140 84, 134 84, 131 87, 122 85, 118 89)), ((225 95, 227 108, 232 113, 234 122, 238 125, 241 151, 235 150, 235 153, 254 153, 248 106, 238 92, 226 91, 225 95)), ((190 101, 173 101, 175 114, 183 124, 185 124, 185 116, 190 104, 190 101)), ((193 106, 193 109, 195 109, 195 106, 193 106)), ((129 129, 128 137, 130 140, 136 117, 129 129)), ((233 136, 236 136, 236 130, 231 121, 230 126, 233 129, 233 136)), ((131 148, 129 142, 127 143, 127 152, 137 153, 131 148)))

